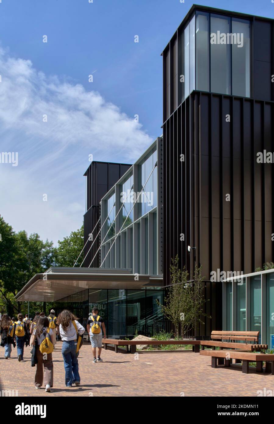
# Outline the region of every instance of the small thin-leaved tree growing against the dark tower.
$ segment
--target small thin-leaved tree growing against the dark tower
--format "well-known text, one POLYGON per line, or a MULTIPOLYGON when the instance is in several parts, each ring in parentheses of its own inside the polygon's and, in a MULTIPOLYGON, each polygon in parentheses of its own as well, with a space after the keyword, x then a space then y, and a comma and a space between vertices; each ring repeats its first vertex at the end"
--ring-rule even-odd
MULTIPOLYGON (((191 328, 195 328, 197 323, 202 323, 201 317, 208 316, 203 312, 205 298, 202 293, 202 267, 195 267, 194 276, 189 280, 189 274, 179 268, 178 255, 172 259, 170 266, 171 287, 168 289, 165 298, 165 305, 161 305, 163 315, 166 316, 175 327, 177 338, 180 337, 180 324, 182 329, 181 337, 191 328)), ((211 317, 208 317, 211 318, 211 317)))

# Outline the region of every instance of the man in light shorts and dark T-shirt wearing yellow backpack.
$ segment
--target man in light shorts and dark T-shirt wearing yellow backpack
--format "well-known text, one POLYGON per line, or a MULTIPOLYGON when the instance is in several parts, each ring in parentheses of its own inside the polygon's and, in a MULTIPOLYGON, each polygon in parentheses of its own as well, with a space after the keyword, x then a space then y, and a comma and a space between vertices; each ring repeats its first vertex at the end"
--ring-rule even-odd
POLYGON ((87 323, 87 331, 90 336, 91 350, 93 354, 94 363, 102 362, 102 359, 101 359, 102 337, 103 337, 102 329, 104 331, 104 339, 105 339, 105 335, 106 335, 105 323, 102 317, 98 315, 97 307, 94 307, 92 308, 92 315, 89 317, 88 323, 87 323), (96 359, 96 348, 98 348, 97 359, 96 359))

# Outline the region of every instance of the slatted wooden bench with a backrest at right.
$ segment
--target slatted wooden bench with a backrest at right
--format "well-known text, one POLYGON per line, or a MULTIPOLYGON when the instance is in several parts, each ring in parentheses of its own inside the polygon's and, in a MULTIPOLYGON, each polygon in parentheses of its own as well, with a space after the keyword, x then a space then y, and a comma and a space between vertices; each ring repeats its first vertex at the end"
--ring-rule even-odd
POLYGON ((203 340, 200 343, 202 350, 205 349, 205 346, 211 346, 213 350, 215 350, 216 347, 220 349, 241 349, 251 351, 268 349, 267 345, 257 344, 259 333, 259 331, 213 331, 211 333, 211 339, 213 340, 203 340), (237 341, 244 341, 246 343, 237 343, 237 341))

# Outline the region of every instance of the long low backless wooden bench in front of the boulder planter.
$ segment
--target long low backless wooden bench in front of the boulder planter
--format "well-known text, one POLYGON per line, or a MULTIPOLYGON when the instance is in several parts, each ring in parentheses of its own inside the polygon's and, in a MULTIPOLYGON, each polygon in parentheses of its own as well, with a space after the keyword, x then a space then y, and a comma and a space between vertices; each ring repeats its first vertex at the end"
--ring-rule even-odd
POLYGON ((137 345, 149 345, 149 346, 157 346, 157 345, 192 345, 192 351, 199 353, 200 351, 200 341, 199 340, 118 340, 118 339, 103 339, 102 343, 107 349, 108 344, 114 345, 115 352, 118 353, 119 346, 126 346, 127 353, 135 353, 137 345))

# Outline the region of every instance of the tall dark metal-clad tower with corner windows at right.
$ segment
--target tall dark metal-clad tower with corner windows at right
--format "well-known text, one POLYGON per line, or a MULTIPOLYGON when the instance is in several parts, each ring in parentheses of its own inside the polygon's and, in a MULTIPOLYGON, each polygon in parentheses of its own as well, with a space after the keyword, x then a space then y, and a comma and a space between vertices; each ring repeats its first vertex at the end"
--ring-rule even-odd
POLYGON ((163 282, 176 254, 189 273, 202 265, 200 335, 222 326, 212 271, 273 258, 274 168, 256 160, 274 151, 273 34, 274 20, 194 5, 162 53, 163 282))

